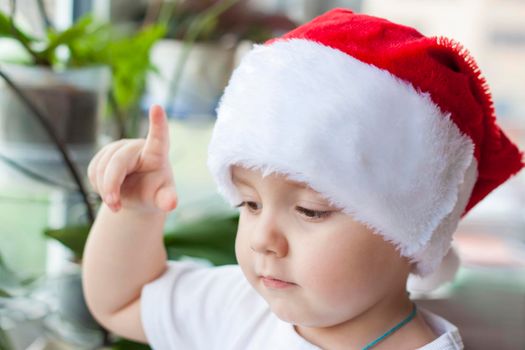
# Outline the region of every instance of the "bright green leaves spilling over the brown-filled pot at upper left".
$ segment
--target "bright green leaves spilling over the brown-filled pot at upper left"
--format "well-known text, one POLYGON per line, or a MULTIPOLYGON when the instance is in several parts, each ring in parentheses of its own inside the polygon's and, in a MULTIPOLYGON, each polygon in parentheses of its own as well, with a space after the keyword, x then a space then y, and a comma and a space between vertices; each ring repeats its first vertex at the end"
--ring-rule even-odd
POLYGON ((119 138, 137 135, 138 116, 133 116, 132 107, 142 95, 147 73, 153 70, 149 51, 165 33, 163 24, 129 33, 108 23, 98 23, 87 15, 63 31, 49 27, 45 37, 39 38, 18 27, 13 14, 0 12, 0 37, 15 40, 27 53, 14 63, 57 70, 94 65, 106 65, 111 69, 111 100, 119 123, 119 138), (60 55, 60 50, 64 52, 64 49, 67 54, 60 55), (130 125, 129 130, 126 123, 130 125))

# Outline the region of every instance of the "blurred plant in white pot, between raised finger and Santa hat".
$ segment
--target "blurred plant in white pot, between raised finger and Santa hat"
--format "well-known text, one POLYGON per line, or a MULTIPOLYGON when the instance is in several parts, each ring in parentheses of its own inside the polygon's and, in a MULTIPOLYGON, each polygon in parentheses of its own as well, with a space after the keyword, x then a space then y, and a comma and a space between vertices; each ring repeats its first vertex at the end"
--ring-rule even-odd
POLYGON ((152 6, 158 7, 158 22, 166 24, 167 33, 152 49, 152 62, 161 74, 148 77, 148 96, 179 118, 214 115, 240 43, 262 42, 295 27, 283 15, 252 10, 246 0, 166 1, 152 6))

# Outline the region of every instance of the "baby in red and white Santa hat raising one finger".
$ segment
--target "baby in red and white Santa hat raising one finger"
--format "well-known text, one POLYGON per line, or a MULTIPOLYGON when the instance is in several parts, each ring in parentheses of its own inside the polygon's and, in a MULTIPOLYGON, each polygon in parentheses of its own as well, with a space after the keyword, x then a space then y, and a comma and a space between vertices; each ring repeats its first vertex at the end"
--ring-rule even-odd
POLYGON ((162 109, 91 161, 104 200, 83 262, 96 319, 155 349, 462 349, 416 307, 459 219, 523 167, 457 43, 335 9, 255 46, 208 166, 240 209, 239 265, 166 261, 177 206, 162 109))

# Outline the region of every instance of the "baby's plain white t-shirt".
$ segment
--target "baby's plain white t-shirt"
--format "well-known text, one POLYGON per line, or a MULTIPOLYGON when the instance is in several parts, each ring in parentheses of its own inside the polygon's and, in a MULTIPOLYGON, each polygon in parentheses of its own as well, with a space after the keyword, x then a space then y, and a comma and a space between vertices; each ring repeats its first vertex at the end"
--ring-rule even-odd
MULTIPOLYGON (((418 311, 439 335, 421 350, 463 349, 453 324, 418 311)), ((238 265, 169 261, 167 271, 143 287, 141 315, 155 350, 319 350, 270 311, 238 265)))

